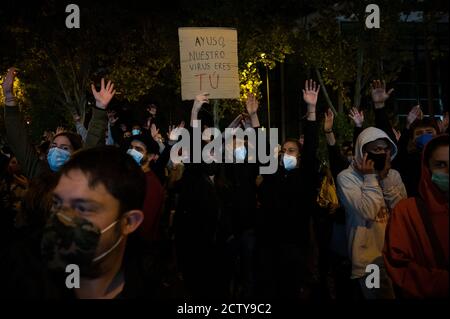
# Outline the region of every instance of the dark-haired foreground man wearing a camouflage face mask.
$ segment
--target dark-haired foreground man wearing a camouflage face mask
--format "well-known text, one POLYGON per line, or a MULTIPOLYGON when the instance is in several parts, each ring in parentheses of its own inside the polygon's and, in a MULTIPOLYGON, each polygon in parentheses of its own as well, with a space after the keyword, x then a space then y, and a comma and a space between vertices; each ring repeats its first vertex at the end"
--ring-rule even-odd
POLYGON ((11 264, 4 270, 11 274, 4 282, 10 297, 155 298, 155 263, 134 235, 144 218, 145 191, 141 168, 119 149, 76 153, 59 172, 40 238, 14 246, 14 257, 5 256, 11 264), (39 261, 25 259, 34 253, 32 245, 39 261), (67 265, 78 266, 79 288, 67 286, 67 265))

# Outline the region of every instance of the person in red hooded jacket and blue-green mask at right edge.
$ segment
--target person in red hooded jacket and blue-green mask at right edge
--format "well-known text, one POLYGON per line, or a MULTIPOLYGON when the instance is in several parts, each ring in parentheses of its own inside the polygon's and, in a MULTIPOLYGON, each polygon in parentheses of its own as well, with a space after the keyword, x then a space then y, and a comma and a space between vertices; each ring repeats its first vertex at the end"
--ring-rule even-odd
POLYGON ((419 196, 392 212, 383 250, 388 274, 405 298, 448 298, 449 139, 432 139, 422 155, 419 196))

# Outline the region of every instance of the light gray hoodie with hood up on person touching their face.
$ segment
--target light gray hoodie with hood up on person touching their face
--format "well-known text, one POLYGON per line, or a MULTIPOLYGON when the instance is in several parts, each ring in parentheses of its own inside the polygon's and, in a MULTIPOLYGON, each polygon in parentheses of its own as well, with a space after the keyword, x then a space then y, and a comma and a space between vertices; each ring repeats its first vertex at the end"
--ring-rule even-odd
POLYGON ((389 212, 407 197, 396 170, 390 169, 387 177, 379 181, 377 174, 363 175, 356 169, 355 164, 362 163, 364 157, 363 146, 377 139, 386 139, 392 145, 392 159, 397 155, 397 146, 387 134, 369 127, 356 140, 354 162, 337 177, 337 193, 346 212, 352 278, 366 275, 366 266, 380 259, 389 212))

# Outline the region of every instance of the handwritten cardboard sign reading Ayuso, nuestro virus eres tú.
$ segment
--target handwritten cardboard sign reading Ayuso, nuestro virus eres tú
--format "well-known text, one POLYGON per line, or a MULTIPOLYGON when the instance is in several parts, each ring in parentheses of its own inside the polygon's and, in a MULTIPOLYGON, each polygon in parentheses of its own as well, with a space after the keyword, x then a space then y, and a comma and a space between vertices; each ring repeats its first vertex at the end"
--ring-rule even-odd
POLYGON ((181 98, 239 98, 237 31, 230 28, 179 28, 181 98))

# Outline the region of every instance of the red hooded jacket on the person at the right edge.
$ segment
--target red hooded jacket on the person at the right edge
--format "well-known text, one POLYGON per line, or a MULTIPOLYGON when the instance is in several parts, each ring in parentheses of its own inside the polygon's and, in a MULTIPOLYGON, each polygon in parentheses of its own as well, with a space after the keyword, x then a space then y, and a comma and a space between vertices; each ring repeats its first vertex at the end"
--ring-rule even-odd
POLYGON ((447 266, 437 266, 416 200, 408 198, 395 206, 386 229, 383 250, 386 269, 407 298, 448 297, 448 198, 431 181, 424 160, 419 193, 427 207, 447 266))

